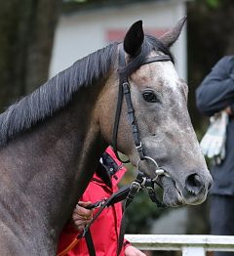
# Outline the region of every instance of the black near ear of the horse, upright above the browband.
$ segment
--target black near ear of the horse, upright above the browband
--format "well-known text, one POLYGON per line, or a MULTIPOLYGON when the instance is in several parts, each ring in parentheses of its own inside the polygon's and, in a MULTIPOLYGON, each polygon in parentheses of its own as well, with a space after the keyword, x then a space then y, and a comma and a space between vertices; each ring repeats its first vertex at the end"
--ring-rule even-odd
POLYGON ((144 33, 142 21, 137 21, 128 30, 124 39, 124 50, 127 54, 134 57, 140 50, 143 43, 144 33))

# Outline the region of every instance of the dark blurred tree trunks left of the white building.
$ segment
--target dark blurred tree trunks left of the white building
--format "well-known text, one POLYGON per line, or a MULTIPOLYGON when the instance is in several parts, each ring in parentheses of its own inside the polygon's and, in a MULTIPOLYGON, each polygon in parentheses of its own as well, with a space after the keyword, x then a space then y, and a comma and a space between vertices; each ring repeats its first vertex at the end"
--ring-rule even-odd
POLYGON ((47 80, 61 0, 0 2, 0 110, 47 80))

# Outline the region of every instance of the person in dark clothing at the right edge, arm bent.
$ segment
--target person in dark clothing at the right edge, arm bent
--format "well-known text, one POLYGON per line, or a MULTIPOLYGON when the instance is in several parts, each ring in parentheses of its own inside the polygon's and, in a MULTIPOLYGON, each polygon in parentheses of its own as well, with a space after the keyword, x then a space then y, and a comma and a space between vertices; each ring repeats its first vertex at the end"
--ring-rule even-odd
MULTIPOLYGON (((225 157, 212 166, 210 222, 212 235, 234 235, 234 56, 225 56, 215 64, 197 88, 196 101, 208 116, 223 111, 228 114, 225 157)), ((234 252, 215 252, 215 256, 234 256, 234 252)))

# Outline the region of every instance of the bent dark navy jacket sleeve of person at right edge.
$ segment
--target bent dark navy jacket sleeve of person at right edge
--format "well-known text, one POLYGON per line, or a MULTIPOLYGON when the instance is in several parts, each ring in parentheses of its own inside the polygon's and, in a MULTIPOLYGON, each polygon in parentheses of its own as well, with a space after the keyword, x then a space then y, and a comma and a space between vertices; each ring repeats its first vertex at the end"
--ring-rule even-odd
POLYGON ((196 90, 198 109, 213 115, 234 105, 234 56, 222 58, 196 90))

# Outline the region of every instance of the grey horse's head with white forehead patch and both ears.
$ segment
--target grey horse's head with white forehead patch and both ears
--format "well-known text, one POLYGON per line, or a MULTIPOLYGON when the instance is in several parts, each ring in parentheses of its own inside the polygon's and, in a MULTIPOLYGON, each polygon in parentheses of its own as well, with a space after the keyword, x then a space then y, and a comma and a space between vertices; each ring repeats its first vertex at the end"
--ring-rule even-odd
POLYGON ((127 154, 146 175, 157 180, 164 190, 164 203, 170 206, 202 203, 212 185, 187 110, 188 86, 179 78, 169 51, 185 20, 178 21, 159 39, 144 35, 141 21, 134 23, 123 44, 119 45, 119 55, 124 52, 126 66, 116 61, 116 68, 106 81, 105 93, 100 97, 102 105, 105 104, 98 107, 102 136, 112 144, 110 135, 114 127, 118 85, 120 77, 127 78, 137 136, 143 155, 147 157, 139 160, 125 101, 119 119, 118 150, 127 154), (158 167, 164 170, 163 175, 156 175, 158 167))

